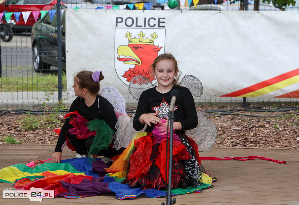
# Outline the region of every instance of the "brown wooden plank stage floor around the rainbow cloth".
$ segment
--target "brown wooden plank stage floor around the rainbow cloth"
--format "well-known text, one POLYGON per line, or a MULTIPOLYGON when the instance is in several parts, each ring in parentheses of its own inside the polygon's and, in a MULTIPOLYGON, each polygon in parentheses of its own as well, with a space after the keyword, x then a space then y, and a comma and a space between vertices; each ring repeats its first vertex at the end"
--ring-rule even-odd
MULTIPOLYGON (((10 145, 0 144, 0 169, 13 164, 31 161, 31 159, 45 160, 52 157, 54 145, 10 145)), ((74 158, 74 152, 65 149, 64 159, 74 158)), ((195 204, 288 204, 299 205, 299 149, 244 149, 244 148, 213 148, 207 152, 200 152, 206 157, 245 157, 250 155, 286 161, 278 164, 260 159, 248 161, 210 161, 202 160, 206 172, 218 181, 211 189, 203 189, 201 193, 178 195, 176 205, 195 204)), ((147 204, 160 205, 166 203, 166 198, 138 197, 133 200, 117 200, 113 195, 94 196, 80 199, 66 199, 57 197, 43 199, 42 202, 29 199, 3 199, 5 188, 12 188, 9 183, 0 183, 0 204, 147 204)))

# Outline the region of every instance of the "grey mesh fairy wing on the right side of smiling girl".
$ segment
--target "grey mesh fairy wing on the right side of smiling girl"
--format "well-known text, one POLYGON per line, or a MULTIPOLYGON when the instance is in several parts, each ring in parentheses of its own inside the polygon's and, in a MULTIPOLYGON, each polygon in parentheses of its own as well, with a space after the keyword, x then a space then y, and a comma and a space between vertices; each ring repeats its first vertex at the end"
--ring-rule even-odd
MULTIPOLYGON (((203 93, 202 83, 193 75, 185 75, 180 82, 180 86, 187 87, 190 92, 200 97, 203 93)), ((198 125, 185 133, 198 144, 199 151, 208 151, 215 144, 217 129, 215 125, 204 115, 197 111, 198 125)))

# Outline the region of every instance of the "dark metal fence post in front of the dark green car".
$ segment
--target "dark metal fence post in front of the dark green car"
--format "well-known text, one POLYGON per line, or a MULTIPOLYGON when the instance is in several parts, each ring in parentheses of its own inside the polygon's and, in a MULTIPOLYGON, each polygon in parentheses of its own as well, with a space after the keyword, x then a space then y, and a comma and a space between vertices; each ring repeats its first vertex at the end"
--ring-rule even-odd
POLYGON ((57 0, 58 101, 62 99, 61 0, 57 0))

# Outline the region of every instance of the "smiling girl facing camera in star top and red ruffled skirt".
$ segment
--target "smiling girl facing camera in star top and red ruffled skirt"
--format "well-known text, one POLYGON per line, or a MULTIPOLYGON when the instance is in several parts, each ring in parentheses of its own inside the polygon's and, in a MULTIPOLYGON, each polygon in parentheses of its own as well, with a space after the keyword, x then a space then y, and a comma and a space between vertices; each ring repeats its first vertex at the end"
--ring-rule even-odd
MULTIPOLYGON (((184 130, 196 128, 197 111, 191 92, 177 85, 179 69, 173 55, 159 55, 152 64, 152 72, 158 86, 145 90, 139 98, 133 127, 139 131, 147 125, 145 132, 138 132, 107 172, 122 170, 123 183, 142 189, 160 189, 165 186, 166 133, 170 93, 177 89, 173 123, 173 168, 171 188, 198 187, 202 184, 198 145, 185 135, 184 130)), ((169 131, 169 130, 168 130, 169 131)), ((169 151, 168 151, 169 152, 169 151)), ((167 159, 168 161, 168 159, 167 159)), ((170 185, 169 185, 170 186, 170 185)))

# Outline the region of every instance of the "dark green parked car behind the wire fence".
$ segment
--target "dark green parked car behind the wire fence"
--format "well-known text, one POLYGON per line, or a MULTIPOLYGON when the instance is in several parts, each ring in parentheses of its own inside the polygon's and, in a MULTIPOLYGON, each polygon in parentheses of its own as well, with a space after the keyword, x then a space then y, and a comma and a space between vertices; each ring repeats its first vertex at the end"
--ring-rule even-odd
MULTIPOLYGON (((65 9, 61 6, 61 9, 65 9)), ((53 7, 51 10, 57 10, 53 7)), ((65 12, 61 19, 61 40, 62 40, 62 70, 65 66, 65 12)), ((57 51, 57 12, 51 21, 49 12, 37 21, 31 30, 32 61, 36 72, 47 72, 51 66, 58 67, 57 51)))

